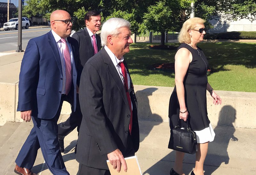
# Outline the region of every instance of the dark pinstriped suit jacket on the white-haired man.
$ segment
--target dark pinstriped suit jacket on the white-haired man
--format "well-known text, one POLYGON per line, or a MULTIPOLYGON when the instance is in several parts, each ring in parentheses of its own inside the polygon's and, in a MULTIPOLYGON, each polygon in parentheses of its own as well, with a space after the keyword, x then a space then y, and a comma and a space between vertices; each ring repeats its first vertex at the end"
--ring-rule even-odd
POLYGON ((102 48, 85 64, 81 75, 79 101, 83 119, 76 154, 79 163, 108 169, 108 153, 120 149, 125 157, 125 153, 132 148, 137 152, 137 100, 134 91, 130 95, 133 105, 132 135, 129 134, 131 112, 124 85, 109 55, 102 48), (128 136, 132 141, 128 141, 128 136))

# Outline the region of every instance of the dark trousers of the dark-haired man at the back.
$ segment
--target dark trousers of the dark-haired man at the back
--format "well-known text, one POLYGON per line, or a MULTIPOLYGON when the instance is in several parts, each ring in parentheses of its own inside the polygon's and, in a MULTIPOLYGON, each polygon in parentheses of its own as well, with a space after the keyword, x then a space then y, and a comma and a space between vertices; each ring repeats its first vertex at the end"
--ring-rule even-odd
POLYGON ((66 121, 58 124, 59 139, 64 140, 64 137, 67 136, 69 133, 71 133, 76 127, 77 127, 77 132, 79 134, 81 121, 82 121, 82 113, 80 109, 79 95, 76 94, 76 111, 74 112, 72 110, 72 113, 70 114, 69 118, 66 121))

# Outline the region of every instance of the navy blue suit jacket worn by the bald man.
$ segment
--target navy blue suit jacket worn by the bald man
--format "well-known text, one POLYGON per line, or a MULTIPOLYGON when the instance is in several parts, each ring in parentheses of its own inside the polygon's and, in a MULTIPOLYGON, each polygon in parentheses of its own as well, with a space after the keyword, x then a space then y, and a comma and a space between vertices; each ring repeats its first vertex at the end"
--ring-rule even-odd
MULTIPOLYGON (((76 109, 76 84, 82 67, 77 41, 68 37, 68 42, 73 51, 72 88, 68 95, 76 109)), ((21 62, 17 111, 32 110, 34 117, 52 119, 60 106, 62 83, 60 55, 52 32, 29 40, 21 62)))

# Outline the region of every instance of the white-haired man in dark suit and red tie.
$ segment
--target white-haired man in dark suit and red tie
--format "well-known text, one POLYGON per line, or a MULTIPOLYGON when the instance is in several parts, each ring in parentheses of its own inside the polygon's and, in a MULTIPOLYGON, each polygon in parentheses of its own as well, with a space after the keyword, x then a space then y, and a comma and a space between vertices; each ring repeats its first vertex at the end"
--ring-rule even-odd
POLYGON ((130 51, 130 23, 110 18, 102 26, 100 52, 86 62, 80 81, 83 119, 78 136, 77 174, 108 175, 107 160, 119 172, 124 157, 139 149, 137 100, 123 55, 130 51))

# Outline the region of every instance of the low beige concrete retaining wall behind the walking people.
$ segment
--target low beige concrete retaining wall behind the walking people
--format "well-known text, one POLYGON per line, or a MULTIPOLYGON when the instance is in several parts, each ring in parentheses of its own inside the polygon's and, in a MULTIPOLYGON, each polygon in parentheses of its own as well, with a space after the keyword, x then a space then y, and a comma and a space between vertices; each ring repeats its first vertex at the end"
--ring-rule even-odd
MULTIPOLYGON (((134 85, 138 99, 139 119, 168 121, 169 99, 173 87, 134 85)), ((6 121, 21 122, 20 112, 16 112, 18 103, 18 83, 0 83, 0 126, 6 121)), ((256 93, 216 91, 222 98, 222 104, 212 104, 207 92, 208 116, 212 125, 256 128, 256 93)), ((62 114, 71 113, 70 105, 63 103, 62 114)))

